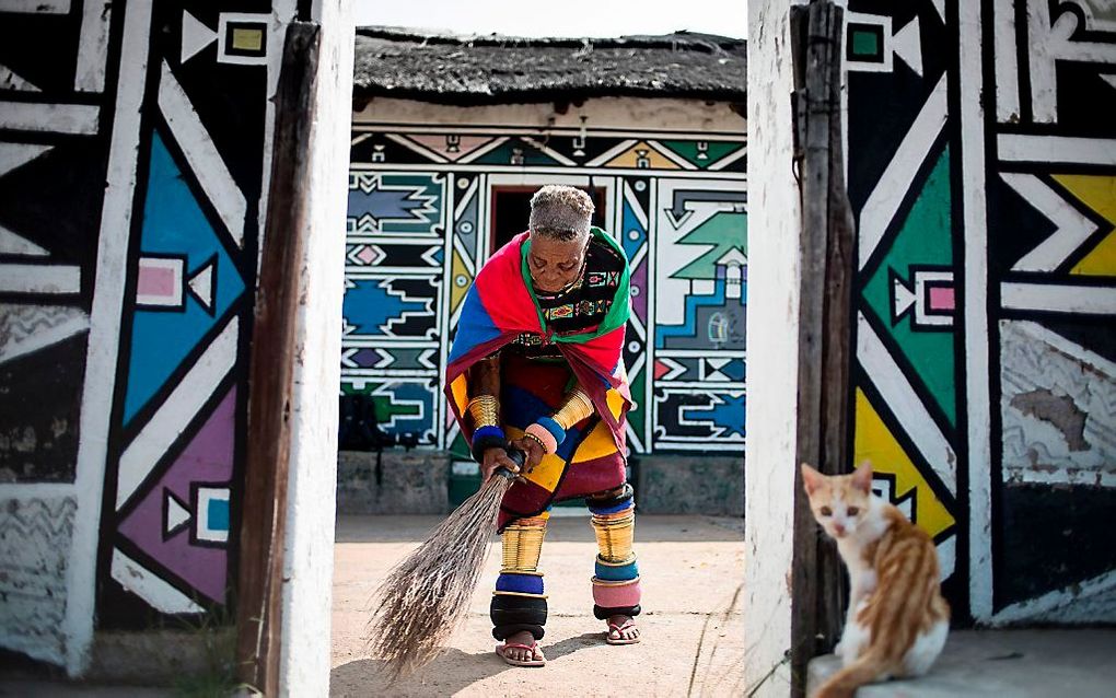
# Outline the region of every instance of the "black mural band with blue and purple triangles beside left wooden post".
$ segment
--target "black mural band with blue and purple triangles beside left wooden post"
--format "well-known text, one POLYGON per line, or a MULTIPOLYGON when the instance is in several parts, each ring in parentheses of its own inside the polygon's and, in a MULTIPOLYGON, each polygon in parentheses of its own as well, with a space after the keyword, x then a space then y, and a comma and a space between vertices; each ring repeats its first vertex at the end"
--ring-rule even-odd
POLYGON ((103 627, 231 600, 267 97, 282 41, 272 9, 167 2, 150 18, 164 30, 134 88, 142 108, 100 525, 103 627))

